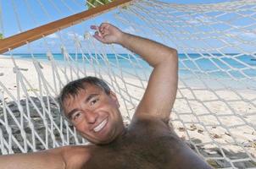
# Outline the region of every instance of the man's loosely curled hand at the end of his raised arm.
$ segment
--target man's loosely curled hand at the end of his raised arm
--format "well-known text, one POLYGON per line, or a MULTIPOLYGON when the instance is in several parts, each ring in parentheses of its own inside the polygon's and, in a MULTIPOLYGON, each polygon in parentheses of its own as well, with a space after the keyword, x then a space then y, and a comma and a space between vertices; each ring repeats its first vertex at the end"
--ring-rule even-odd
POLYGON ((100 26, 92 25, 92 30, 96 30, 93 37, 95 37, 98 41, 102 41, 103 43, 120 43, 123 32, 115 27, 114 25, 110 25, 109 23, 103 23, 100 26))

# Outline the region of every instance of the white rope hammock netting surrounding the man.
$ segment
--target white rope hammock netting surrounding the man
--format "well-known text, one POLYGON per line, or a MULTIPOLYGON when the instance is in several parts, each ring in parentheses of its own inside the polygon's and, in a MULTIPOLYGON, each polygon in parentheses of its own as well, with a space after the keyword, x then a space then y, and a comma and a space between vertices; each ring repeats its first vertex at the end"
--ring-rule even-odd
MULTIPOLYGON (((42 11, 33 11, 35 4, 26 0, 24 6, 1 4, 4 36, 14 34, 8 32, 11 26, 23 32, 85 8, 78 0, 32 2, 42 11), (12 21, 4 20, 5 11, 13 11, 12 21), (23 27, 21 14, 31 23, 23 27)), ((178 50, 179 89, 170 123, 198 155, 216 168, 256 167, 254 0, 195 5, 133 1, 27 43, 19 48, 22 53, 9 49, 8 58, 0 58, 0 154, 86 144, 61 117, 55 98, 67 82, 88 75, 110 85, 125 123, 130 122, 152 68, 120 46, 94 40, 89 27, 103 21, 178 50)))

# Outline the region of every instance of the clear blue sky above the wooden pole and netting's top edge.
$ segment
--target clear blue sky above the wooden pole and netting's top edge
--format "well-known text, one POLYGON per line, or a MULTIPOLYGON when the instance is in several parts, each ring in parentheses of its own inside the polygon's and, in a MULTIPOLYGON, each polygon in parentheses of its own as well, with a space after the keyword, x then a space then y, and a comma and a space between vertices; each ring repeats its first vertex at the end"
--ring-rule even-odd
MULTIPOLYGON (((225 2, 225 0, 162 0, 162 2, 195 4, 221 3, 225 2)), ((0 31, 3 32, 5 36, 17 33, 17 31, 19 31, 19 24, 21 30, 27 30, 35 26, 34 20, 40 19, 40 23, 36 21, 36 24, 42 25, 50 21, 47 19, 48 17, 51 18, 51 20, 59 19, 60 15, 68 16, 69 14, 75 14, 86 9, 84 0, 0 0, 0 4, 2 8, 1 22, 3 22, 0 31), (54 8, 54 6, 57 6, 58 9, 54 8), (67 8, 68 6, 69 8, 67 8)), ((109 19, 109 17, 107 17, 107 19, 109 19)))

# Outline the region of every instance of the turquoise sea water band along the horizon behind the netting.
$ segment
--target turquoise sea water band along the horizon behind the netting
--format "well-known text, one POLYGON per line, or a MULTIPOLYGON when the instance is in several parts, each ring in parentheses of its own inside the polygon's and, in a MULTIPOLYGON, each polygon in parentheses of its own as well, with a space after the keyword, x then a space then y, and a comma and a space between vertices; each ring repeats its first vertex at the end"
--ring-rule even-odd
MULTIPOLYGON (((37 60, 42 62, 47 61, 45 54, 36 53, 33 54, 37 60)), ((16 53, 14 57, 22 59, 30 59, 31 54, 16 53)), ((64 56, 60 53, 54 53, 53 57, 58 63, 64 64, 64 56)), ((150 74, 152 68, 147 63, 142 61, 138 56, 131 56, 128 54, 85 54, 84 57, 81 54, 70 53, 70 57, 75 60, 75 64, 78 66, 94 65, 102 68, 109 67, 109 64, 118 70, 122 68, 128 72, 137 71, 150 74), (96 62, 97 60, 97 62, 96 62)), ((181 77, 189 76, 192 73, 212 75, 216 77, 229 78, 231 76, 237 79, 247 78, 247 76, 256 78, 256 60, 255 57, 250 55, 238 55, 237 53, 228 53, 223 57, 219 53, 211 54, 179 54, 179 74, 181 77), (251 67, 251 68, 249 68, 251 67)))

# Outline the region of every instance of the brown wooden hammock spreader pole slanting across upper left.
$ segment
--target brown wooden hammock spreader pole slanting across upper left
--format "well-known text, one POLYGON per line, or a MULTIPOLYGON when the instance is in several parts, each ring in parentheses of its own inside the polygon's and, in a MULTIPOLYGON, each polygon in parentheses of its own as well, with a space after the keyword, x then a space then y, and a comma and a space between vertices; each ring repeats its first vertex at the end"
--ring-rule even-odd
POLYGON ((112 3, 101 5, 97 8, 92 8, 84 12, 71 15, 64 19, 58 19, 49 24, 38 26, 34 29, 26 30, 20 34, 4 38, 3 40, 0 40, 0 53, 8 52, 9 49, 13 50, 14 48, 23 46, 26 44, 26 42, 36 41, 43 36, 53 34, 54 32, 63 30, 64 28, 70 27, 71 25, 79 24, 86 19, 90 19, 99 14, 108 12, 112 8, 125 6, 125 4, 131 3, 131 1, 132 0, 116 0, 112 3))

